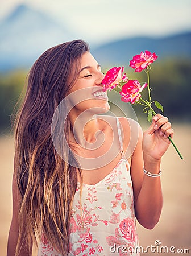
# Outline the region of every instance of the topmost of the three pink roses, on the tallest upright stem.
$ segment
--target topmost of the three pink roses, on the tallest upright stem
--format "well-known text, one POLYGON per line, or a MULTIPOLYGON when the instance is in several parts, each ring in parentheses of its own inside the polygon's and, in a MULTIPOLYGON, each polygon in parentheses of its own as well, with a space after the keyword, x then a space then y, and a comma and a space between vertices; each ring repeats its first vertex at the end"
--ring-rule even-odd
POLYGON ((135 55, 132 60, 130 60, 130 67, 135 68, 135 72, 141 72, 148 65, 153 63, 157 59, 155 52, 151 53, 149 51, 141 52, 138 55, 135 55))

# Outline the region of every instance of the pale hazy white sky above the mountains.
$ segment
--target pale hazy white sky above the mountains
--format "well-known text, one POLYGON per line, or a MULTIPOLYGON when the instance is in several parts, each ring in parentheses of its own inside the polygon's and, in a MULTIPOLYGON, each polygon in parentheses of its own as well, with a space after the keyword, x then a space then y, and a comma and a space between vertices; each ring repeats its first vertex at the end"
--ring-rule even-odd
POLYGON ((20 3, 45 11, 95 44, 191 30, 190 0, 1 0, 0 20, 20 3))

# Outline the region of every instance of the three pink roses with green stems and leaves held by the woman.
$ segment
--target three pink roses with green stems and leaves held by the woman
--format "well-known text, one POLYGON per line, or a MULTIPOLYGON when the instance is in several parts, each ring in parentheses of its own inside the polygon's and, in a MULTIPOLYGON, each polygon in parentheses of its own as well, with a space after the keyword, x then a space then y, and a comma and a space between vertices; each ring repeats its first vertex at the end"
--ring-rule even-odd
MULTIPOLYGON (((130 67, 135 69, 135 72, 146 71, 147 73, 147 82, 143 85, 140 85, 138 80, 130 80, 126 76, 126 73, 123 73, 124 67, 114 67, 107 71, 104 79, 102 80, 103 90, 117 90, 121 94, 121 100, 124 102, 130 102, 131 104, 140 104, 143 105, 143 112, 147 113, 147 119, 149 122, 152 122, 152 116, 156 115, 155 110, 153 110, 152 105, 155 104, 157 109, 160 109, 163 113, 163 106, 156 100, 151 101, 151 88, 149 80, 149 71, 151 70, 151 63, 157 59, 155 53, 149 51, 141 52, 139 55, 135 55, 132 60, 130 60, 130 67), (148 100, 144 100, 140 94, 144 88, 148 89, 148 100)), ((181 159, 182 155, 175 143, 172 141, 172 138, 169 136, 168 139, 175 147, 178 155, 181 159)))

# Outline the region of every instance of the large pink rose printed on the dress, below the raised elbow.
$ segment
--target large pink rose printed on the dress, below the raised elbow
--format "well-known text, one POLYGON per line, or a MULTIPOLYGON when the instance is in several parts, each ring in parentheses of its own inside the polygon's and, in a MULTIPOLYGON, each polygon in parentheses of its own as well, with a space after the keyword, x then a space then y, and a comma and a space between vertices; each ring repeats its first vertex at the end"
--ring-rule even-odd
POLYGON ((124 218, 119 224, 120 231, 122 233, 122 237, 124 237, 127 241, 134 242, 135 241, 135 224, 134 220, 131 218, 124 218))

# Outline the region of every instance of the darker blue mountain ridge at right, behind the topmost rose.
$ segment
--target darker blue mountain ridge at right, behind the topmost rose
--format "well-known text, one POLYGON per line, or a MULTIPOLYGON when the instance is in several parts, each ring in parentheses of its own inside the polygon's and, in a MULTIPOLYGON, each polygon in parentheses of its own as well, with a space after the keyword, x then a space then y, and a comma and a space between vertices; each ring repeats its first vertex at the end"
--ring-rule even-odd
POLYGON ((141 51, 155 52, 159 59, 164 57, 191 57, 191 32, 165 38, 128 38, 104 44, 92 51, 104 67, 126 65, 132 56, 141 51))

